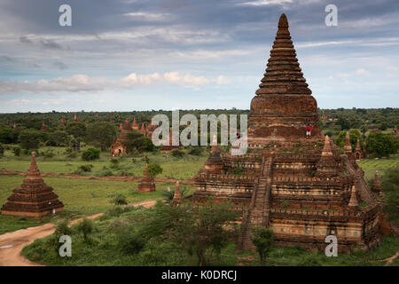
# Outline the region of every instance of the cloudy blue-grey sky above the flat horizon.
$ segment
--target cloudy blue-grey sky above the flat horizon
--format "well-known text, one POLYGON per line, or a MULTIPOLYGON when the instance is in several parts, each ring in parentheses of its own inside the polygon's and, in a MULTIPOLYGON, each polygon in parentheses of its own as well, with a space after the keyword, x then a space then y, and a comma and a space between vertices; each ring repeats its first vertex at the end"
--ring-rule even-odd
POLYGON ((397 0, 0 0, 0 113, 248 109, 282 12, 319 107, 399 107, 397 0))

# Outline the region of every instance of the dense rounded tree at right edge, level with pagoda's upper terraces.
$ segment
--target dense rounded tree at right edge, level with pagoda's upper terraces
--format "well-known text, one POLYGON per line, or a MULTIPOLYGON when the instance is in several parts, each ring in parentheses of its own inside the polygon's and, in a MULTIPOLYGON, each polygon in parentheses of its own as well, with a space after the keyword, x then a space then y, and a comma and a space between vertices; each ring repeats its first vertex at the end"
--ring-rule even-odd
POLYGON ((396 154, 398 141, 392 135, 382 132, 370 133, 367 138, 366 150, 378 157, 388 157, 389 154, 396 154))

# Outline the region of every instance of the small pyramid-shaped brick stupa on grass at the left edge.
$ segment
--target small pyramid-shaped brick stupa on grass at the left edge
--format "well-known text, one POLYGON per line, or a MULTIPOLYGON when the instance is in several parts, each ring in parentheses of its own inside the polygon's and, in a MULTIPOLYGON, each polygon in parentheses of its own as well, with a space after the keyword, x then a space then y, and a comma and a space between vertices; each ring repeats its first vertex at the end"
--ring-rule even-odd
POLYGON ((2 214, 26 217, 42 217, 49 213, 64 210, 64 204, 50 186, 44 184, 35 162, 35 152, 32 152, 32 162, 27 177, 20 187, 12 191, 12 195, 2 208, 2 214))

